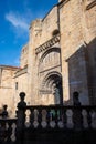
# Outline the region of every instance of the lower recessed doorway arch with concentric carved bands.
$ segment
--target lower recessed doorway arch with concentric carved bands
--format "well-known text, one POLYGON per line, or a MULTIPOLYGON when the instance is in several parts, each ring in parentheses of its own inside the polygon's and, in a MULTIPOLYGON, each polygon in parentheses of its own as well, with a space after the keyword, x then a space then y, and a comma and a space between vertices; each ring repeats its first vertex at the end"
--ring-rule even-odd
POLYGON ((50 91, 54 95, 55 104, 63 104, 62 75, 53 71, 45 75, 41 90, 50 91))

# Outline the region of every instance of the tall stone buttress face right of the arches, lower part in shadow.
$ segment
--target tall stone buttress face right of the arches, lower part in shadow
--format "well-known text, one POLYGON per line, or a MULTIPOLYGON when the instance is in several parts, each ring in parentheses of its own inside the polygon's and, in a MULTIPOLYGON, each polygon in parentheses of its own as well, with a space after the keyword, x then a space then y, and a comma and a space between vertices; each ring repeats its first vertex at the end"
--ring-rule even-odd
POLYGON ((83 8, 79 0, 64 1, 60 6, 63 96, 65 103, 68 101, 73 103, 73 92, 78 91, 82 104, 88 104, 86 59, 85 52, 81 53, 84 47, 82 14, 83 8))

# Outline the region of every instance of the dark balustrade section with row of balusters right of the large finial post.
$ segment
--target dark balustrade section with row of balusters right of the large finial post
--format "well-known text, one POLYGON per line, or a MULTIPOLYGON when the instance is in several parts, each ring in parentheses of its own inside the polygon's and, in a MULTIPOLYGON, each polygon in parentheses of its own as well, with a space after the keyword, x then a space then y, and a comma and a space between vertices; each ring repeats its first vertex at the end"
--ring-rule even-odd
POLYGON ((25 127, 96 128, 96 106, 26 106, 25 127))

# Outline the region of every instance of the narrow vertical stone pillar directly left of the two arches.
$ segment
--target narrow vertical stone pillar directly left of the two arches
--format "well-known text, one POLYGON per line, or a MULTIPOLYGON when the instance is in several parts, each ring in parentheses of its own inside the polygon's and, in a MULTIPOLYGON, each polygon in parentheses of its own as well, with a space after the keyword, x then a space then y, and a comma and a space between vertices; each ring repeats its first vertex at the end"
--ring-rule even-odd
MULTIPOLYGON (((31 97, 31 104, 35 105, 38 99, 38 55, 35 54, 35 49, 38 47, 39 39, 36 33, 41 31, 41 19, 32 22, 30 27, 30 42, 29 42, 29 93, 31 97)), ((39 100, 38 100, 39 101, 39 100)))

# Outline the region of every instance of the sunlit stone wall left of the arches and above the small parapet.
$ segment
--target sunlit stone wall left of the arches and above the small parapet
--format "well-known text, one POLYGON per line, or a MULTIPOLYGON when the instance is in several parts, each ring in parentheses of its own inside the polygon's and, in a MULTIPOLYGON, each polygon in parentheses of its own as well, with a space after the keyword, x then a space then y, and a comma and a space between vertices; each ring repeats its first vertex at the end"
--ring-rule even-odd
POLYGON ((38 104, 39 99, 39 60, 41 54, 35 54, 35 49, 53 38, 53 31, 58 29, 57 24, 57 7, 54 7, 43 20, 35 20, 30 27, 29 42, 29 90, 32 104, 38 104), (32 56, 31 56, 32 55, 32 56))

